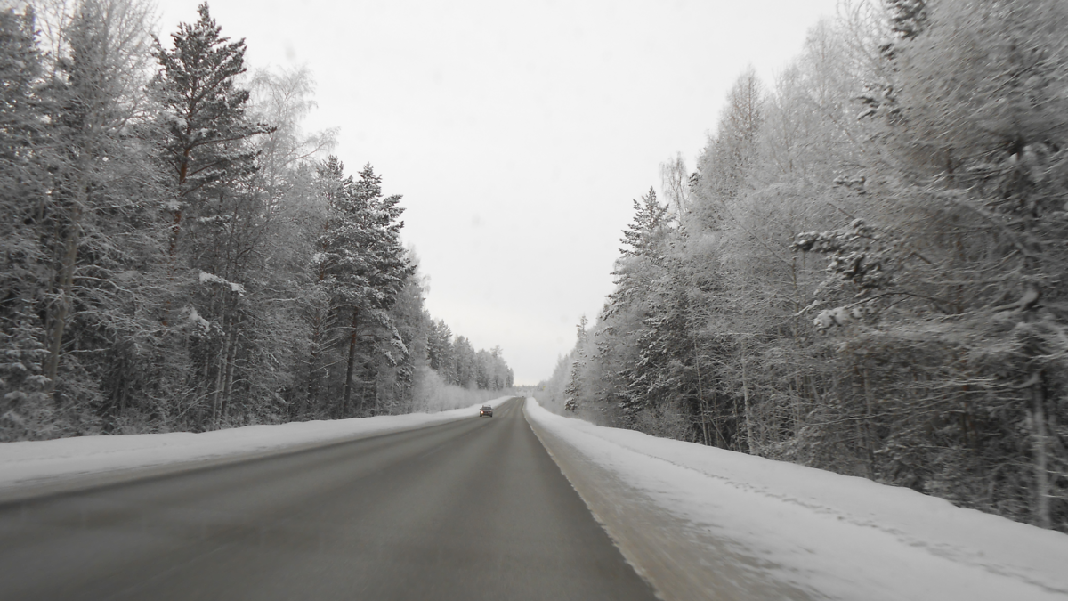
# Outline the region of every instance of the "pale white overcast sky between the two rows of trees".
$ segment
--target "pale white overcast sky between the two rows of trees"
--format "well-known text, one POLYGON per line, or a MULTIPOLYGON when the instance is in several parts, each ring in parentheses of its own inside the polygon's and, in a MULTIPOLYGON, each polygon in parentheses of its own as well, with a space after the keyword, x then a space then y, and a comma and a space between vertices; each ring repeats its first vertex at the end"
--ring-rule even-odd
MULTIPOLYGON (((162 0, 161 40, 201 0, 162 0)), ((250 68, 307 65, 309 130, 340 127, 404 195, 426 306, 518 384, 547 379, 612 291, 631 199, 681 152, 692 170, 724 96, 765 80, 837 0, 211 0, 250 68)))

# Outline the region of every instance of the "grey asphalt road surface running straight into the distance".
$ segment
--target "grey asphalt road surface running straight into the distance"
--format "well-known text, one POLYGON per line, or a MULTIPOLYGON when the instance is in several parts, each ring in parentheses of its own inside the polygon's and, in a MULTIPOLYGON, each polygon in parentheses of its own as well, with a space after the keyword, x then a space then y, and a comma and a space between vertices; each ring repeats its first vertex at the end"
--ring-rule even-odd
POLYGON ((0 505, 0 599, 654 599, 521 403, 0 505))

